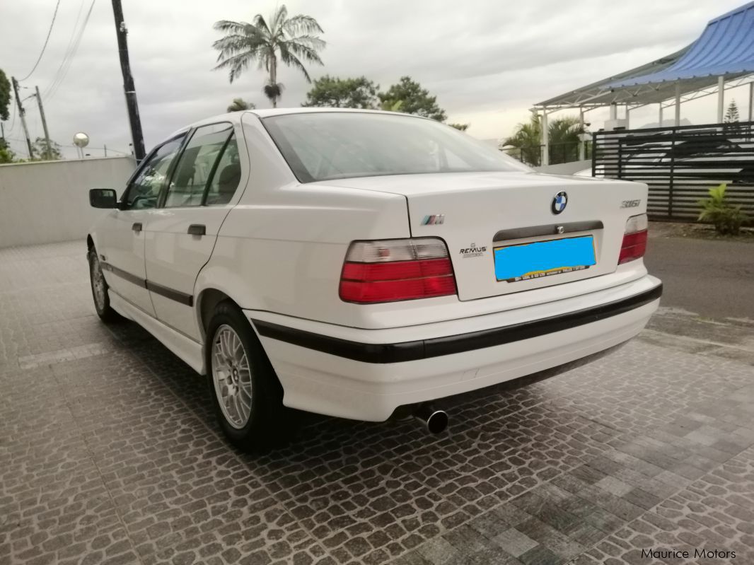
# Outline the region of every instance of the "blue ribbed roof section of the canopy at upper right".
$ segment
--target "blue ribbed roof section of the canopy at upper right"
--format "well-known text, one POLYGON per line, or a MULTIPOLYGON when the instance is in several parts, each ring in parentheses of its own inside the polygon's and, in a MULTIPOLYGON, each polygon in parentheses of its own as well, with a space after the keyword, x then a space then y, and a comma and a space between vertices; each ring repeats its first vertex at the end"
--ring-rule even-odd
POLYGON ((667 69, 611 82, 605 87, 620 88, 747 72, 754 72, 754 2, 710 21, 700 38, 667 69))

